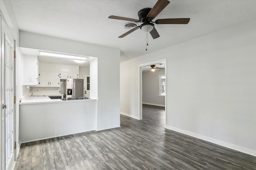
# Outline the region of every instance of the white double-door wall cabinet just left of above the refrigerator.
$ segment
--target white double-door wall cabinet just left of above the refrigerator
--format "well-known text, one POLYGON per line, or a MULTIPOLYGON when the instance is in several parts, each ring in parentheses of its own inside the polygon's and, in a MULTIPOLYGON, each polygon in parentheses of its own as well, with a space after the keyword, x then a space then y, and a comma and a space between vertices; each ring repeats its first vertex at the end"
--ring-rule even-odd
POLYGON ((60 87, 60 75, 57 72, 39 72, 40 87, 60 87))

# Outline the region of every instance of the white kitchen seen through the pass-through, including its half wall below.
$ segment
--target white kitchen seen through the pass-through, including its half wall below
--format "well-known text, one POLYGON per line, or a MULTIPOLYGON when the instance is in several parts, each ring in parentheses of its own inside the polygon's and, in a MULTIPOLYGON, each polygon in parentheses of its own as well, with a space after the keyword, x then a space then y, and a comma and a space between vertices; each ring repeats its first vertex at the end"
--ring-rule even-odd
POLYGON ((40 51, 22 50, 20 143, 95 130, 97 104, 90 98, 90 60, 94 57, 76 63, 51 53, 43 56, 40 51))

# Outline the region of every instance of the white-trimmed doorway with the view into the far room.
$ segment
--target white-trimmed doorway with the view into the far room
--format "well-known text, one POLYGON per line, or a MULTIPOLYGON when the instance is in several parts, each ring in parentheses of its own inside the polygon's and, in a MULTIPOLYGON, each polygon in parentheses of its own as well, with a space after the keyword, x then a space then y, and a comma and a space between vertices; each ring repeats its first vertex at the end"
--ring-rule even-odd
POLYGON ((143 119, 143 106, 164 110, 162 120, 166 127, 167 97, 166 59, 139 65, 139 118, 143 119))

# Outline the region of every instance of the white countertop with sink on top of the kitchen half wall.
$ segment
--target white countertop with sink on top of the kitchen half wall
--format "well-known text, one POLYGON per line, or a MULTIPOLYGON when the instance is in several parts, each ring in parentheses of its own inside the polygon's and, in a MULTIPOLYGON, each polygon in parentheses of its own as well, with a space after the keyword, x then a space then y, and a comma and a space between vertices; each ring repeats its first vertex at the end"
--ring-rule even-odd
POLYGON ((84 99, 84 100, 61 100, 61 99, 50 99, 48 96, 42 97, 26 97, 22 98, 22 102, 20 105, 24 104, 48 104, 48 103, 64 103, 64 102, 85 102, 85 101, 93 101, 96 99, 84 99))

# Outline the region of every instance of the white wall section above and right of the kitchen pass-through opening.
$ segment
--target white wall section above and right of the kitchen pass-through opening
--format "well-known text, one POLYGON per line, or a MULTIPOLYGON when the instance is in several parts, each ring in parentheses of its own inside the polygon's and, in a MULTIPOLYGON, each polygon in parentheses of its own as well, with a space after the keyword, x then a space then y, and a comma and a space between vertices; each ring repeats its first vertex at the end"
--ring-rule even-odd
MULTIPOLYGON (((120 50, 20 31, 20 47, 98 58, 98 126, 120 126, 120 50), (109 68, 111 65, 111 68, 109 68)), ((92 73, 92 71, 90 71, 92 73)))

